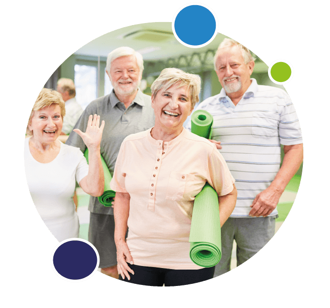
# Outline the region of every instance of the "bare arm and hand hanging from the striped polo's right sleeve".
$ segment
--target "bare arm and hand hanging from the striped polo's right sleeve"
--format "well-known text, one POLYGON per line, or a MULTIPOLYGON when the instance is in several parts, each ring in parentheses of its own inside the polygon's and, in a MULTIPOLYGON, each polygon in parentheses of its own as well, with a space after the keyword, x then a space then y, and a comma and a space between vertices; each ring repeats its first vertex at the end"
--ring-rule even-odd
POLYGON ((288 182, 298 171, 303 161, 303 145, 284 146, 282 167, 271 185, 259 193, 251 204, 250 216, 266 217, 271 214, 288 182))

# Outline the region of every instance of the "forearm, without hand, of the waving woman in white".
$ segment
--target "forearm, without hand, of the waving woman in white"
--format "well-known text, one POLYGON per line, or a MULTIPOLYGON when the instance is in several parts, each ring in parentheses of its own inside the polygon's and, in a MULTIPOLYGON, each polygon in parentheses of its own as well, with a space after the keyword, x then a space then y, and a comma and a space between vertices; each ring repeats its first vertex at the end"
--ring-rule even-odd
POLYGON ((86 177, 88 194, 97 197, 104 192, 104 171, 101 162, 100 148, 88 149, 89 170, 86 177))

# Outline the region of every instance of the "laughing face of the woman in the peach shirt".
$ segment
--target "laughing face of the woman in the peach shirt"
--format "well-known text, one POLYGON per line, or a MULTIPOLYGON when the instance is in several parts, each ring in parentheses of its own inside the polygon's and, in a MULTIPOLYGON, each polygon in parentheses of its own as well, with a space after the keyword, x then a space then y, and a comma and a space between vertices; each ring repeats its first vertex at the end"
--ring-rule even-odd
POLYGON ((193 111, 187 86, 160 89, 151 97, 151 106, 155 111, 155 127, 162 129, 182 129, 183 122, 193 111))

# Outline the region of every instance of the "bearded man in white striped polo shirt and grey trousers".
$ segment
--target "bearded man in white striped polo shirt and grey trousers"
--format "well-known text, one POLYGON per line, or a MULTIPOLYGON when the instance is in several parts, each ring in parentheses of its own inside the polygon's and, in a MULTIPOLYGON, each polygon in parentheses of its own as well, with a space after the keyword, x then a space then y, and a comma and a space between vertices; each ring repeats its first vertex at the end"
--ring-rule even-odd
POLYGON ((215 54, 214 67, 222 90, 196 110, 213 115, 212 139, 221 141, 217 148, 236 179, 238 192, 236 207, 221 228, 217 277, 230 271, 234 239, 238 266, 274 236, 276 206, 301 165, 303 146, 298 116, 287 93, 260 86, 250 78, 254 59, 249 49, 225 38, 215 54))

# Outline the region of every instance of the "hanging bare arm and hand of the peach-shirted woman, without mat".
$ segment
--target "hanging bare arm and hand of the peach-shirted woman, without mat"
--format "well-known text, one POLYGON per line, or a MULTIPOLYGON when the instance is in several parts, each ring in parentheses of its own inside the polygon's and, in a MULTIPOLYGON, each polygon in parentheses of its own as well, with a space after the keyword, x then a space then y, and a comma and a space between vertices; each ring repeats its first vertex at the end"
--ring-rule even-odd
POLYGON ((134 275, 133 270, 128 266, 128 262, 133 264, 133 258, 128 249, 125 235, 127 232, 127 220, 130 213, 130 195, 128 193, 116 192, 113 213, 115 218, 115 243, 117 248, 117 269, 124 279, 131 279, 128 272, 134 275))

